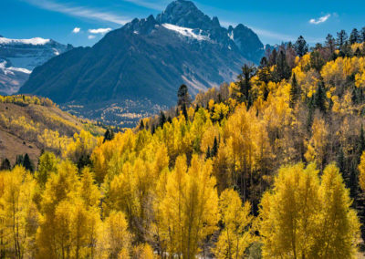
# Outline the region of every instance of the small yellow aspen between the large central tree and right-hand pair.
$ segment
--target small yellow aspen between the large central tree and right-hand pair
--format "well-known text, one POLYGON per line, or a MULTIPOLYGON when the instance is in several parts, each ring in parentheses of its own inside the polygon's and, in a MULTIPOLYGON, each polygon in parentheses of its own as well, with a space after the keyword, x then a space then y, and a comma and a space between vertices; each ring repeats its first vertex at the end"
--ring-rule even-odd
POLYGON ((245 202, 233 189, 227 189, 219 198, 219 210, 224 229, 215 244, 216 258, 243 258, 245 250, 255 241, 251 226, 254 216, 250 214, 251 205, 245 202))

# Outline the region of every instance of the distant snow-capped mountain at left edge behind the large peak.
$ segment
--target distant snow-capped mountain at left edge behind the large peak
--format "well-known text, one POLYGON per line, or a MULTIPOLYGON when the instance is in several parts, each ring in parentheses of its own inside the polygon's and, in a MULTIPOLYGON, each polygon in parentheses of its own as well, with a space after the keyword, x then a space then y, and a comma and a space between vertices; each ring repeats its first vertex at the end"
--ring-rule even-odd
POLYGON ((0 94, 15 93, 35 67, 70 48, 41 37, 11 39, 0 36, 0 94))

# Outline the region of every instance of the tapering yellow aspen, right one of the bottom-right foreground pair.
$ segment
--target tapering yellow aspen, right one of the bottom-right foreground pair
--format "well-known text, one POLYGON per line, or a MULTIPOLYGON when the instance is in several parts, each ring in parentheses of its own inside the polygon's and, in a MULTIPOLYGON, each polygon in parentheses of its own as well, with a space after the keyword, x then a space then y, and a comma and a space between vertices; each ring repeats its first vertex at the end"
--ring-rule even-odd
POLYGON ((323 171, 319 201, 312 258, 356 258, 360 223, 356 211, 350 208, 349 190, 333 163, 323 171))

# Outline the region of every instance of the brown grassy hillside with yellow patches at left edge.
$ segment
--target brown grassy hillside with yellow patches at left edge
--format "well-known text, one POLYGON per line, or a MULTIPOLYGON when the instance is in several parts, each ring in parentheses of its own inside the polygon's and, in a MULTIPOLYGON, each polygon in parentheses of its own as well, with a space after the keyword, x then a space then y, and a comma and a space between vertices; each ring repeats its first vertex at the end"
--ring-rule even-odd
POLYGON ((36 164, 41 150, 60 154, 82 129, 103 134, 102 129, 58 109, 49 99, 0 96, 0 161, 7 158, 14 164, 17 155, 27 153, 36 164))

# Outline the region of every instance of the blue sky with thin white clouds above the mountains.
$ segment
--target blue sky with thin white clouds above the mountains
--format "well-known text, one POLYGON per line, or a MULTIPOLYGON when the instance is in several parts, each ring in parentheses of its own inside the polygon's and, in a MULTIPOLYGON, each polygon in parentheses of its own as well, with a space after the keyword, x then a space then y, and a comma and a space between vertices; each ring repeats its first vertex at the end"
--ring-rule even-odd
MULTIPOLYGON (((41 36, 76 47, 95 44, 110 29, 134 17, 159 14, 166 0, 1 0, 0 35, 41 36)), ((251 27, 263 43, 276 44, 303 35, 308 43, 323 41, 340 29, 365 26, 365 3, 360 0, 197 0, 208 16, 223 26, 251 27)))

